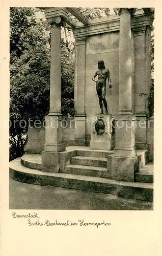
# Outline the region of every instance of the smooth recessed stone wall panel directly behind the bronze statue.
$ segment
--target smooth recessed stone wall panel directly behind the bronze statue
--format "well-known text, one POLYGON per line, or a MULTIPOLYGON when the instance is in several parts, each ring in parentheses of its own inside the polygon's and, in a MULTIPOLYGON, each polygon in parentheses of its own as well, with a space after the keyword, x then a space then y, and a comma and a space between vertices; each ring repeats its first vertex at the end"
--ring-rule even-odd
MULTIPOLYGON (((134 81, 134 55, 132 38, 132 84, 134 81)), ((109 88, 106 80, 106 101, 109 114, 118 113, 119 101, 119 31, 88 36, 86 39, 86 79, 85 79, 85 114, 86 141, 89 145, 91 140, 91 121, 93 116, 100 112, 96 84, 92 76, 98 70, 98 60, 102 59, 105 68, 109 69, 113 88, 109 88)), ((104 109, 104 108, 103 108, 104 109)))

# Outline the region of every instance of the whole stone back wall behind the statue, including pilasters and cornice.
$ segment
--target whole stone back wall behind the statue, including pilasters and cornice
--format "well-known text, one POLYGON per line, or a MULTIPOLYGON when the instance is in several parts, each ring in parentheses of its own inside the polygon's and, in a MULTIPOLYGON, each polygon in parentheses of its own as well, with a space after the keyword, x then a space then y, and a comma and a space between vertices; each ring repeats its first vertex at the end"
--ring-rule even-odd
MULTIPOLYGON (((148 102, 146 98, 148 96, 146 95, 149 93, 151 85, 151 28, 151 17, 146 15, 142 9, 137 10, 131 20, 132 111, 137 118, 136 146, 145 149, 148 148, 148 131, 147 129, 141 129, 138 122, 141 122, 141 120, 147 122, 148 102), (143 93, 143 96, 140 96, 141 93, 143 93)), ((111 89, 108 84, 106 87, 105 98, 108 111, 111 115, 118 113, 119 29, 119 16, 111 15, 106 18, 92 20, 89 26, 80 24, 73 30, 75 37, 76 115, 75 125, 73 122, 71 127, 68 124, 63 129, 66 146, 90 145, 93 118, 100 112, 96 84, 92 81, 93 75, 98 70, 98 60, 104 60, 105 67, 110 70, 113 85, 111 89)), ((27 147, 42 148, 43 143, 43 132, 29 131, 27 147), (33 135, 30 135, 30 133, 33 133, 33 135), (37 139, 40 142, 36 146, 37 139)), ((151 142, 149 146, 152 145, 151 142)))

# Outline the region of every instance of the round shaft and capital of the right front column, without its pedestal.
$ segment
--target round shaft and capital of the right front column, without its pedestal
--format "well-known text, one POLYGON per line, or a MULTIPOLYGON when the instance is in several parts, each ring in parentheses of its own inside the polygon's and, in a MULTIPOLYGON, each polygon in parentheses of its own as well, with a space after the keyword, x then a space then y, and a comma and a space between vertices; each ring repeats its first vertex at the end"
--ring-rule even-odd
POLYGON ((132 10, 120 8, 119 35, 119 114, 132 115, 132 81, 131 81, 131 27, 132 10))

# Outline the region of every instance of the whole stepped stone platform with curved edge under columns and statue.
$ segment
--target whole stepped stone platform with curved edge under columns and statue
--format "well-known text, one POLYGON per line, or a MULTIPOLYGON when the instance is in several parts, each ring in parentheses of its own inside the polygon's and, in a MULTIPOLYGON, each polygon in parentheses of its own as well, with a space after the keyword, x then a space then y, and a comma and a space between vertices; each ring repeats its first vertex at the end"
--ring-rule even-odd
POLYGON ((89 147, 66 148, 66 151, 72 150, 77 152, 76 156, 71 158, 70 164, 66 165, 61 173, 42 172, 41 155, 25 154, 10 162, 10 174, 14 180, 24 183, 81 189, 153 201, 153 164, 145 165, 145 152, 138 152, 141 169, 135 174, 136 182, 123 182, 109 179, 106 163, 107 156, 113 154, 112 151, 90 150, 89 147))

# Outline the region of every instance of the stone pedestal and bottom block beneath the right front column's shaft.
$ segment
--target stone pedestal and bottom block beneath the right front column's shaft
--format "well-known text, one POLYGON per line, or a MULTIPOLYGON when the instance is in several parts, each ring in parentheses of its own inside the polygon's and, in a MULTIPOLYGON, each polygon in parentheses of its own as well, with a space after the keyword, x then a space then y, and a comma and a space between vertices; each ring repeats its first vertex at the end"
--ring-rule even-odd
POLYGON ((134 115, 117 115, 115 117, 115 148, 112 157, 112 179, 120 181, 134 181, 137 171, 137 157, 135 147, 134 115))

